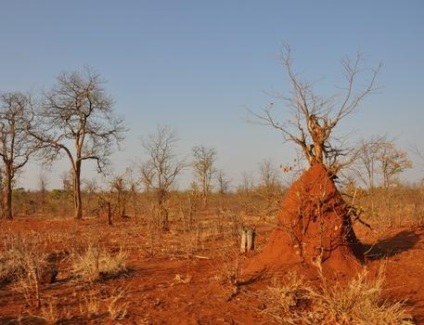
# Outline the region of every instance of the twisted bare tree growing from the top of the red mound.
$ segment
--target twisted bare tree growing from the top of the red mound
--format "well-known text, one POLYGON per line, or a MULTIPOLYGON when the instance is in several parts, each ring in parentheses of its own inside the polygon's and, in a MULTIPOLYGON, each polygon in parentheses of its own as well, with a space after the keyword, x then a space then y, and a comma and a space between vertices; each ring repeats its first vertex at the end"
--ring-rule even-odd
POLYGON ((278 130, 285 141, 298 145, 310 165, 324 163, 336 174, 351 160, 341 162, 340 157, 348 153, 336 145, 331 134, 343 118, 353 113, 364 98, 375 91, 375 81, 381 66, 371 70, 370 80, 364 87, 360 87, 358 78, 362 72, 362 57, 358 54, 354 60, 346 58, 342 61, 345 87, 341 88, 339 94, 324 97, 315 92, 312 83, 301 80, 295 72, 289 46, 283 50, 282 62, 291 91, 278 98, 286 103, 291 118, 279 122, 273 103, 262 113, 251 113, 259 123, 278 130))

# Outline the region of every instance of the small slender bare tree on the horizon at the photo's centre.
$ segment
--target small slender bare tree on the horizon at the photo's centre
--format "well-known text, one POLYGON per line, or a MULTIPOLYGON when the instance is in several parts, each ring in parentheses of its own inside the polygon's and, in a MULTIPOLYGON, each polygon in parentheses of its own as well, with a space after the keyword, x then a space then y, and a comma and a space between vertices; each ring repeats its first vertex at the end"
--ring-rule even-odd
POLYGON ((202 191, 203 206, 208 205, 212 177, 216 173, 214 167, 216 150, 205 146, 196 146, 193 149, 193 170, 202 191))

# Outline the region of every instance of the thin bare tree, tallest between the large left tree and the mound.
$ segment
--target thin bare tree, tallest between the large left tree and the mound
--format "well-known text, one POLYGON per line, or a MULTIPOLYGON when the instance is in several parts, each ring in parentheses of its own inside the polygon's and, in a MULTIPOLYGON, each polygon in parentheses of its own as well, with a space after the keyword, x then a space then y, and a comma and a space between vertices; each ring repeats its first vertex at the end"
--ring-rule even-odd
POLYGON ((141 181, 147 191, 152 191, 156 198, 158 218, 162 230, 169 230, 168 210, 166 202, 176 177, 185 167, 177 159, 174 146, 178 141, 173 129, 158 126, 156 133, 142 142, 148 160, 141 166, 141 181))

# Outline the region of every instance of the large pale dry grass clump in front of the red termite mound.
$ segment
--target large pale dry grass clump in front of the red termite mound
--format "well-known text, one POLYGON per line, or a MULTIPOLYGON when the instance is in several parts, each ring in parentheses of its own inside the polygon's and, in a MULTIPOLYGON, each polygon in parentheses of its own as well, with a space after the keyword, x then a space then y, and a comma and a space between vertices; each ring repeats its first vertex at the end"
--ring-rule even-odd
POLYGON ((290 273, 282 285, 265 292, 263 310, 281 324, 414 324, 405 303, 383 297, 384 276, 359 273, 346 286, 326 284, 318 289, 290 273))

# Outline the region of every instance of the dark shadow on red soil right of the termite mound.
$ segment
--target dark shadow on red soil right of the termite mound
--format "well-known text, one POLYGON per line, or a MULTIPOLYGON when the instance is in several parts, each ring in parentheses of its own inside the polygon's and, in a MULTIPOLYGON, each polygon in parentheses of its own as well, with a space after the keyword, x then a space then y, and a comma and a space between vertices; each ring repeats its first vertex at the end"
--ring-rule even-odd
POLYGON ((420 236, 413 230, 403 230, 375 244, 363 244, 368 260, 375 261, 392 257, 413 248, 420 236))

